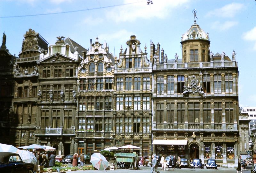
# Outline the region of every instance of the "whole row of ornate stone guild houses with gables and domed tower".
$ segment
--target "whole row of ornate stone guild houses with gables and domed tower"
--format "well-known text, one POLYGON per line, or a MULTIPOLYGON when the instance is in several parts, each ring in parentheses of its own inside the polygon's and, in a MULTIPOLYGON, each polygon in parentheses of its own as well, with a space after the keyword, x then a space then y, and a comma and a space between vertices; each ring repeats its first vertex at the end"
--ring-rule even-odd
POLYGON ((163 154, 237 165, 236 53, 213 55, 209 35, 196 20, 182 34, 182 55, 171 59, 159 43, 151 41, 147 52, 134 35, 118 58, 98 38, 88 50, 60 36, 48 46, 29 29, 19 57, 5 42, 4 34, 0 125, 9 132, 1 136, 4 143, 53 146, 64 155, 131 144, 149 160, 163 154))

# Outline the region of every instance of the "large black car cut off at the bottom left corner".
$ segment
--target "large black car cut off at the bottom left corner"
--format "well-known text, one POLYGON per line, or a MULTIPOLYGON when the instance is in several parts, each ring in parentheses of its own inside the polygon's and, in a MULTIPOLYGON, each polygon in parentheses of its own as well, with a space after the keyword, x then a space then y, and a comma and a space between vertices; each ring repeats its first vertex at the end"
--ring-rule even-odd
POLYGON ((23 162, 19 154, 0 152, 0 172, 33 173, 34 164, 23 162))

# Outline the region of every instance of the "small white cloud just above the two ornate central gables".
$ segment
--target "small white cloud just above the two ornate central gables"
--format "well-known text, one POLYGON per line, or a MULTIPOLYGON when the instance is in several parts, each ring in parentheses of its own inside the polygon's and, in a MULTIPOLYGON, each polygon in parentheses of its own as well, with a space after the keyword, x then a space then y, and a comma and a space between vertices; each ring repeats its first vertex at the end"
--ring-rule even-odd
POLYGON ((107 33, 107 34, 100 34, 99 39, 100 40, 107 40, 107 41, 116 41, 118 42, 126 42, 129 40, 131 35, 135 35, 135 33, 128 32, 125 29, 122 29, 120 31, 117 31, 115 33, 107 33))

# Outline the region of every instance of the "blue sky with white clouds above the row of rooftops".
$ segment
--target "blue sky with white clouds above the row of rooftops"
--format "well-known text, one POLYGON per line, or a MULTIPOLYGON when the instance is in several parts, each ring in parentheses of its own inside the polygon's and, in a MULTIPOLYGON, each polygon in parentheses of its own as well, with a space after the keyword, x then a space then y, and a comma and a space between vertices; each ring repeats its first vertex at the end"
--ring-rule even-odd
MULTIPOLYGON (((239 70, 239 106, 256 106, 256 1, 255 0, 1 0, 0 32, 7 35, 9 52, 19 55, 29 28, 49 45, 57 36, 69 37, 88 49, 90 39, 107 42, 113 55, 135 35, 140 48, 150 52, 150 40, 164 49, 168 59, 181 57, 181 35, 194 23, 207 33, 210 49, 231 57, 236 51, 239 70), (82 10, 82 11, 79 11, 82 10), (77 11, 77 12, 67 12, 77 11), (58 13, 28 17, 12 17, 58 13), (63 13, 67 12, 67 13, 63 13), (254 90, 255 91, 255 90, 254 90)), ((2 36, 0 36, 2 37, 2 36)))

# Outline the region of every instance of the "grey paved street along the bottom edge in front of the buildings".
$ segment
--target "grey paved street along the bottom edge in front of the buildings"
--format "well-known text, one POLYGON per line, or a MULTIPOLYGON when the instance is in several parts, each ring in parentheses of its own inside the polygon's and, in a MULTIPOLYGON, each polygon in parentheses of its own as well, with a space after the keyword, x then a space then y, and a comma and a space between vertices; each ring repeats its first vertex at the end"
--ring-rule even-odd
MULTIPOLYGON (((85 171, 72 171, 72 172, 67 172, 67 173, 117 173, 117 172, 122 172, 122 173, 150 173, 150 169, 151 167, 140 167, 139 170, 132 170, 132 169, 116 169, 116 170, 85 170, 85 171), (96 171, 96 172, 95 172, 96 171)), ((161 168, 159 167, 157 169, 160 173, 174 173, 174 172, 179 172, 179 173, 216 173, 216 172, 225 172, 225 173, 236 173, 236 169, 235 168, 218 168, 216 169, 206 169, 204 167, 204 169, 188 169, 188 168, 181 168, 181 169, 174 169, 174 171, 169 170, 169 171, 163 171, 161 170, 161 168)), ((240 173, 240 172, 239 172, 240 173)), ((243 173, 251 173, 250 170, 244 170, 243 173)))

